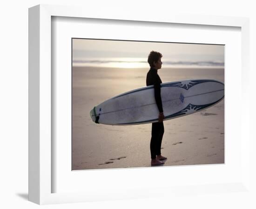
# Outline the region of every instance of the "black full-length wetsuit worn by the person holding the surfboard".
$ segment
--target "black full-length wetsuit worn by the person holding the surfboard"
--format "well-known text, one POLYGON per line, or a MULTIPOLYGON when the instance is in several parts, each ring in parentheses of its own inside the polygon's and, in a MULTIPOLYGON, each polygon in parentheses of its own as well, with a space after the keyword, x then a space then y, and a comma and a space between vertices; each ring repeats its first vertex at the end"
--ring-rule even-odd
MULTIPOLYGON (((154 85, 155 90, 155 102, 159 112, 163 112, 162 109, 162 98, 161 98, 161 85, 162 80, 157 74, 157 70, 150 68, 147 74, 146 80, 147 86, 154 85)), ((161 155, 161 144, 164 133, 163 122, 152 123, 151 141, 150 141, 150 153, 151 159, 155 159, 156 155, 161 155)))

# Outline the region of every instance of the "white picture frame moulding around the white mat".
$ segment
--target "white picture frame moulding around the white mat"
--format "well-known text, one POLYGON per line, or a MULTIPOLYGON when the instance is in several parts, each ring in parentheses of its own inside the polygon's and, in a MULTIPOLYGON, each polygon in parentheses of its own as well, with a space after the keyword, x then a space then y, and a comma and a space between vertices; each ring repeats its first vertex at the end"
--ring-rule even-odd
MULTIPOLYGON (((53 182, 56 180, 52 175, 54 164, 52 163, 51 137, 52 130, 52 57, 51 57, 51 30, 52 16, 55 17, 76 17, 76 18, 93 18, 108 20, 133 20, 141 22, 175 23, 208 25, 208 26, 233 26, 241 28, 241 60, 242 60, 242 77, 241 77, 241 98, 243 104, 249 106, 249 86, 245 82, 249 79, 249 19, 239 17, 219 17, 219 16, 189 16, 189 15, 157 15, 144 13, 143 17, 139 15, 130 15, 126 13, 94 13, 81 7, 38 5, 29 8, 29 201, 37 204, 53 203, 70 203, 86 202, 97 200, 115 200, 125 198, 151 197, 156 192, 152 188, 120 188, 118 193, 109 192, 108 188, 102 187, 101 191, 92 192, 55 192, 53 191, 53 182), (86 11, 86 12, 85 12, 86 11), (126 190, 125 190, 126 189, 126 190), (111 196, 115 194, 115 196, 111 196)), ((196 185, 174 185, 173 187, 161 187, 161 194, 175 195, 183 194, 184 186, 189 191, 195 192, 198 189, 204 190, 205 193, 231 192, 236 190, 244 192, 249 191, 249 126, 245 121, 249 121, 249 111, 238 115, 241 120, 241 133, 243 132, 243 141, 241 141, 241 176, 238 181, 218 184, 196 183, 196 185)), ((225 136, 226 137, 226 136, 225 136)), ((228 136, 227 136, 228 137, 228 136)), ((240 136, 241 139, 242 136, 240 136)), ((160 168, 162 169, 162 168, 160 168)), ((166 170, 161 170, 167 172, 166 170)), ((114 172, 108 170, 109 172, 114 172)), ((124 173, 125 170, 115 170, 115 172, 124 173)), ((130 172, 130 170, 126 170, 130 172)), ((141 169, 141 173, 146 174, 147 170, 141 169)), ((155 169, 150 172, 158 172, 155 169)), ((131 172, 130 172, 131 174, 131 172)), ((86 175, 86 174, 85 174, 86 175)), ((118 187, 118 185, 117 185, 118 187)), ((188 190, 185 191, 188 193, 188 190)), ((184 193, 184 194, 185 194, 184 193)))

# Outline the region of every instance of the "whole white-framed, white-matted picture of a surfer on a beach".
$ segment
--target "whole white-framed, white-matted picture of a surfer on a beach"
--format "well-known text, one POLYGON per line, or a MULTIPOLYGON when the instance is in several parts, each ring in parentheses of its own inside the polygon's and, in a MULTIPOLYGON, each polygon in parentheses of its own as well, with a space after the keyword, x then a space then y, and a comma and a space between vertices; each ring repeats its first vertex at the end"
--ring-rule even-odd
MULTIPOLYGON (((248 191, 249 112, 237 110, 249 104, 248 37, 246 18, 95 15, 79 7, 31 7, 29 200, 51 204, 186 195, 188 189, 199 194, 248 191), (97 109, 111 98, 150 87, 151 51, 161 53, 161 64, 153 62, 153 70, 158 68, 162 89, 176 81, 189 80, 179 84, 182 92, 204 84, 200 92, 193 90, 199 100, 209 93, 201 92, 208 88, 206 81, 214 80, 223 88, 210 92, 225 95, 212 105, 185 105, 192 96, 179 92, 178 104, 185 106, 165 115, 159 149, 167 159, 159 158, 163 163, 156 166, 150 149, 154 120, 144 114, 140 123, 120 125, 106 116, 110 111, 97 109), (200 111, 175 115, 188 107, 200 111), (150 183, 160 174, 164 184, 150 183)), ((146 101, 145 95, 146 90, 139 97, 146 101)), ((167 101, 162 100, 164 113, 167 101)), ((144 111, 135 107, 126 111, 144 111)))

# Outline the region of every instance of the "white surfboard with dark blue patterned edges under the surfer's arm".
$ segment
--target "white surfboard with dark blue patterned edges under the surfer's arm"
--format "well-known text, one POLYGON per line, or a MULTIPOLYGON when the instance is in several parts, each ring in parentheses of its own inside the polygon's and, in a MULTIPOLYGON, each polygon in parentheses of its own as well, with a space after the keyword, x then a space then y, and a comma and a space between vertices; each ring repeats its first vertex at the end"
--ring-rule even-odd
MULTIPOLYGON (((136 125, 158 122, 154 85, 141 87, 96 105, 90 116, 95 123, 136 125)), ((161 84, 164 120, 209 108, 224 98, 224 84, 213 79, 181 80, 161 84)))

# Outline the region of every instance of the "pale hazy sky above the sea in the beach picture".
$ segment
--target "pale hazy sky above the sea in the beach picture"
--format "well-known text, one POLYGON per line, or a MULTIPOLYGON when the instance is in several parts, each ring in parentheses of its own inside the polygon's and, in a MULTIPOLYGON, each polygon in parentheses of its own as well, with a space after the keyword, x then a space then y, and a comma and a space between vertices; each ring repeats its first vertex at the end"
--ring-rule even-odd
POLYGON ((73 59, 147 58, 152 50, 161 52, 163 59, 224 61, 222 45, 73 39, 73 59))

